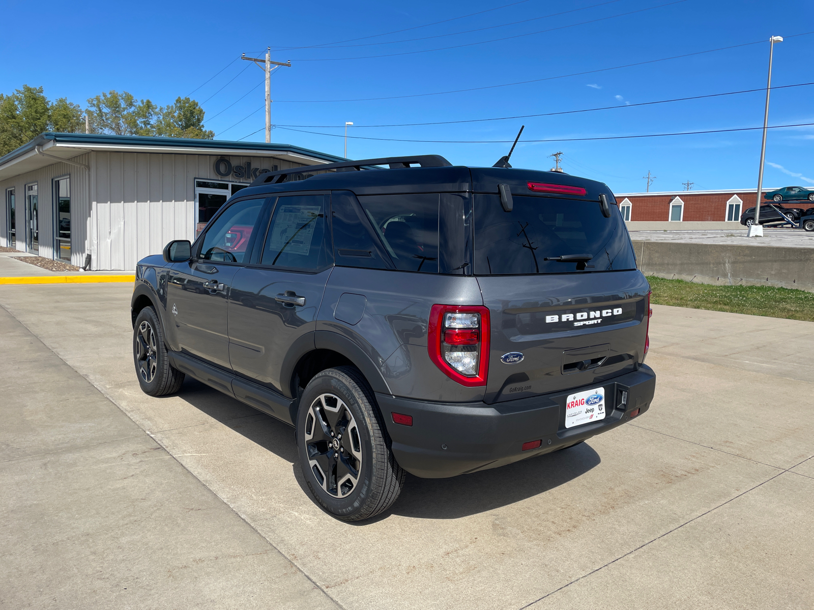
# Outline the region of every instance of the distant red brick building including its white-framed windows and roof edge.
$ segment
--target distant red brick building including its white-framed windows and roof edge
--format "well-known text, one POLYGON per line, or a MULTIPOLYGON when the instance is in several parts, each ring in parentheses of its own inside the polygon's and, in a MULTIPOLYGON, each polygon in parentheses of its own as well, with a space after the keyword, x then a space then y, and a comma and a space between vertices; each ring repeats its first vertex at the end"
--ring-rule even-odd
MULTIPOLYGON (((764 189, 764 193, 775 189, 764 189)), ((757 189, 680 190, 665 193, 616 194, 624 220, 739 222, 755 206, 757 189)))

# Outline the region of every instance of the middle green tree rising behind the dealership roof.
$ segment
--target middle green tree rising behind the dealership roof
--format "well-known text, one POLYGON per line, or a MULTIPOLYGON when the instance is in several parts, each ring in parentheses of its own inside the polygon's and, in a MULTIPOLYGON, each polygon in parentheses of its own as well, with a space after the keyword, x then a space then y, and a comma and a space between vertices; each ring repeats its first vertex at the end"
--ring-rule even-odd
POLYGON ((138 102, 126 91, 110 91, 88 100, 88 119, 94 133, 151 136, 161 109, 149 99, 138 102))

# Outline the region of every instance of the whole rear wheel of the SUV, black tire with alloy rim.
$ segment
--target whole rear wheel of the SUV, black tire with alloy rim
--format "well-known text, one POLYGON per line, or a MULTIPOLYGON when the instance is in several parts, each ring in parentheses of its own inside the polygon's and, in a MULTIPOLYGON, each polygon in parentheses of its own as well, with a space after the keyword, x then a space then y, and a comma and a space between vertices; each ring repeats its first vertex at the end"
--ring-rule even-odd
POLYGON ((296 434, 305 481, 330 515, 369 519, 399 497, 405 471, 390 451, 373 391, 357 368, 328 368, 309 381, 296 434))

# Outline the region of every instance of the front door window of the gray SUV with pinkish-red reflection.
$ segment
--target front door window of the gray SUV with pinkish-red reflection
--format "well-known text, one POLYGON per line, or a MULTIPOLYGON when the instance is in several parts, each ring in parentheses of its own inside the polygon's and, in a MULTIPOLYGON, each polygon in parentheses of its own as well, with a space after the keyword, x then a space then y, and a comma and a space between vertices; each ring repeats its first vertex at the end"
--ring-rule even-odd
POLYGON ((204 235, 199 259, 243 263, 264 202, 265 198, 244 199, 227 207, 204 235))

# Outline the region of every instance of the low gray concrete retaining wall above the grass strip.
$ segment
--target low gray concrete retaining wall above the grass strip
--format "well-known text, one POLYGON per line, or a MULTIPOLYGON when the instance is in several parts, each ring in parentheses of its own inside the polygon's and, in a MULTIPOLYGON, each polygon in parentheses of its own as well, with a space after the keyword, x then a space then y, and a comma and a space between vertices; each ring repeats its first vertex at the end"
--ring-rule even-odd
POLYGON ((814 248, 724 246, 633 240, 645 275, 721 285, 772 285, 814 292, 814 248))

